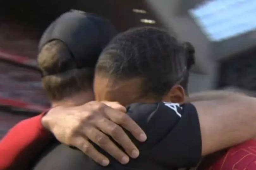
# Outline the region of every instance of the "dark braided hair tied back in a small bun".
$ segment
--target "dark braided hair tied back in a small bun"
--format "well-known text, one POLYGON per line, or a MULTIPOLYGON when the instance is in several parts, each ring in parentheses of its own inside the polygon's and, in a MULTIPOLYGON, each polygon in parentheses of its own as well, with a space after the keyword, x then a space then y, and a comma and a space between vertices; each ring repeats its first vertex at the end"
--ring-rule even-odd
POLYGON ((143 78, 142 95, 162 97, 175 84, 187 89, 194 48, 154 27, 130 29, 101 53, 96 73, 117 79, 143 78))

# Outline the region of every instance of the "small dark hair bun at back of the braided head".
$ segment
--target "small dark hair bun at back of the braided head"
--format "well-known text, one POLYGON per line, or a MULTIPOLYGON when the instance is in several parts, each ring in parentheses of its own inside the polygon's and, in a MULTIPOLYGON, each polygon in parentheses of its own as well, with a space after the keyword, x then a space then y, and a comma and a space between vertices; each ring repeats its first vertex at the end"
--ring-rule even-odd
POLYGON ((195 48, 189 42, 183 43, 183 48, 186 54, 187 69, 189 70, 195 64, 195 48))

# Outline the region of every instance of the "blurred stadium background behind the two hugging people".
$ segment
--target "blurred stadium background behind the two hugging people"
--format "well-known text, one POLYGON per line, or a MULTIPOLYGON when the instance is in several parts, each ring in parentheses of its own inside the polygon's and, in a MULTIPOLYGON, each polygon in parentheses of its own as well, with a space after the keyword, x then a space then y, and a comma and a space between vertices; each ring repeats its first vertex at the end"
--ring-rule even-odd
POLYGON ((0 6, 0 138, 49 106, 36 68, 37 44, 49 23, 70 9, 107 17, 119 31, 158 26, 191 42, 190 92, 256 96, 255 0, 9 0, 0 6))

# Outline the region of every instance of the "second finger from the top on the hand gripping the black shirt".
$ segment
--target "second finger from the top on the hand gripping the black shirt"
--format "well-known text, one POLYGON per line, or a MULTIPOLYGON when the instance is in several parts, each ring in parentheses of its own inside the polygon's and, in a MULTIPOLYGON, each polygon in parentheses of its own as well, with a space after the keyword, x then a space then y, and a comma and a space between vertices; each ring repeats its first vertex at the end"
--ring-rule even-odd
POLYGON ((132 158, 139 156, 139 150, 120 126, 108 119, 101 119, 96 123, 96 126, 115 139, 132 158))

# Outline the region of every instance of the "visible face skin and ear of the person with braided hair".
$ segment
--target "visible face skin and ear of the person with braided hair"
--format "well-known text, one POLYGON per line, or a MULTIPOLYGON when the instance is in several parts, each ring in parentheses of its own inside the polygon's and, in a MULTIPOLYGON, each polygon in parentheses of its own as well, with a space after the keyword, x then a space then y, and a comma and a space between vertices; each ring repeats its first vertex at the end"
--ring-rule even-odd
POLYGON ((96 74, 94 78, 94 95, 96 101, 119 101, 123 106, 131 103, 173 102, 183 103, 185 90, 180 85, 174 85, 167 93, 158 99, 153 94, 141 95, 142 79, 116 80, 96 74), (125 96, 125 97, 124 97, 125 96))

